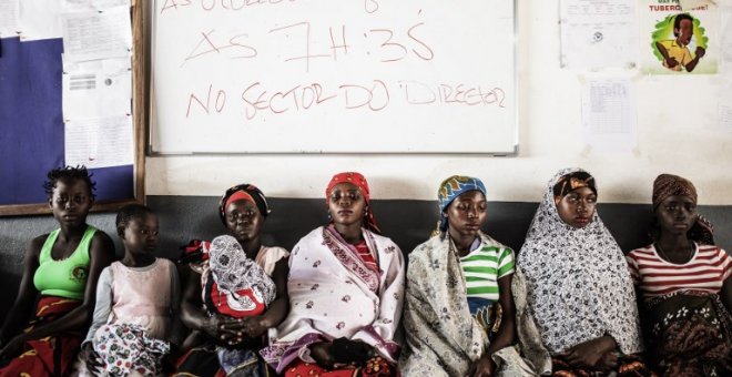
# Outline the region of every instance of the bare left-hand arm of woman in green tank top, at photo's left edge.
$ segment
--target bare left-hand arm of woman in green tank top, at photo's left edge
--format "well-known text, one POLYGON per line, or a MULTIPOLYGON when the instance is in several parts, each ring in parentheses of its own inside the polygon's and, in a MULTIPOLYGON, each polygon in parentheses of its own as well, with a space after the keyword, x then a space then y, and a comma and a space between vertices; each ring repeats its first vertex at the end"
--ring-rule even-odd
POLYGON ((31 241, 28 249, 26 251, 26 257, 23 259, 23 275, 18 288, 18 296, 16 296, 16 302, 10 308, 10 312, 8 312, 8 317, 6 317, 6 322, 2 325, 2 330, 0 330, 0 347, 4 347, 10 339, 20 333, 20 330, 26 327, 28 319, 32 315, 33 303, 35 303, 35 297, 38 296, 38 291, 33 284, 33 276, 35 275, 35 269, 38 268, 38 257, 41 253, 41 247, 43 246, 47 237, 48 234, 35 237, 33 241, 31 241))

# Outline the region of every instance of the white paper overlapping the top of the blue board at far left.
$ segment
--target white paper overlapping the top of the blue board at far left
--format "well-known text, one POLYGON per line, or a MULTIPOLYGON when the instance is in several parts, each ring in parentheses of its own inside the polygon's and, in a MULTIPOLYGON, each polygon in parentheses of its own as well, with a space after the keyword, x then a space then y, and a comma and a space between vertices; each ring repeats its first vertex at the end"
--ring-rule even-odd
POLYGON ((61 2, 22 0, 18 19, 21 41, 61 38, 61 2))

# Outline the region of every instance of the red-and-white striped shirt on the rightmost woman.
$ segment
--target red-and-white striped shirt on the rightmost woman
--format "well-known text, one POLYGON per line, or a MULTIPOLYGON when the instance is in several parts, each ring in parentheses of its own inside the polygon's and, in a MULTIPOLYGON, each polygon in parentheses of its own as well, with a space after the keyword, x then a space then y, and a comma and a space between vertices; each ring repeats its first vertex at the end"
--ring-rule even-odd
POLYGON ((719 293, 732 275, 732 258, 713 245, 697 245, 693 257, 684 264, 664 261, 653 245, 634 249, 626 258, 643 298, 682 291, 719 293))

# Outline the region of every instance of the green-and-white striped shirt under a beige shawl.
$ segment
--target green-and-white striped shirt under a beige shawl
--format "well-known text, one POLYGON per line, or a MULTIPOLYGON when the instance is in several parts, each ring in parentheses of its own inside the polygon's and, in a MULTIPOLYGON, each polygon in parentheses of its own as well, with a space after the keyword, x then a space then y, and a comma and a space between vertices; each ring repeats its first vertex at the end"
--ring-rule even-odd
POLYGON ((460 257, 468 298, 498 300, 498 279, 514 273, 514 253, 508 247, 484 245, 460 257))

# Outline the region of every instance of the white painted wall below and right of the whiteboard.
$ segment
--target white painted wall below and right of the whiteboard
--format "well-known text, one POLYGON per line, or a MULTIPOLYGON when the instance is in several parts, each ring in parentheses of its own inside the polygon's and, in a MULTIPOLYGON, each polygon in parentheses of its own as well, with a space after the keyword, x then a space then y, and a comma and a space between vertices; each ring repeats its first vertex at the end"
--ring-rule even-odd
MULTIPOLYGON (((518 1, 520 152, 516 157, 152 156, 146 163, 146 194, 215 196, 230 185, 250 182, 268 196, 323 197, 334 173, 355 170, 366 175, 376 198, 434 200, 439 182, 459 173, 482 179, 490 201, 536 202, 557 170, 582 166, 597 177, 602 202, 648 203, 653 179, 669 172, 694 182, 700 204, 732 204, 732 133, 718 125, 719 77, 641 77, 631 71, 638 147, 620 154, 592 151, 583 142, 580 124, 581 75, 559 68, 558 1, 518 1)), ((729 6, 732 0, 718 3, 729 6)), ((446 134, 445 142, 460 143, 465 137, 470 135, 446 134)))

